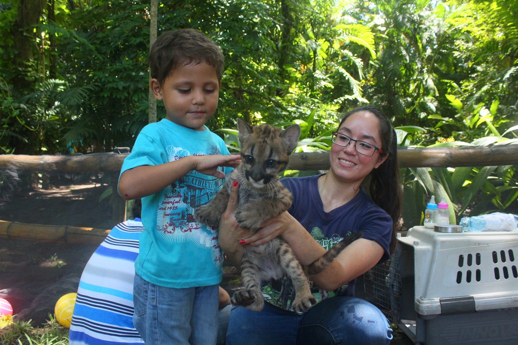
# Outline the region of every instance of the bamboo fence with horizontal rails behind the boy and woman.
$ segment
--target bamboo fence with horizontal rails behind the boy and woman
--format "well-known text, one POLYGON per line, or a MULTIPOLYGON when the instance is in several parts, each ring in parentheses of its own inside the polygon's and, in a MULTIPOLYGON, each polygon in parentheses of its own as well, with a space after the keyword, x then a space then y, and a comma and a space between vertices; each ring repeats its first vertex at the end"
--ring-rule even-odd
MULTIPOLYGON (((398 149, 400 167, 466 167, 518 165, 518 145, 462 148, 398 149)), ((117 194, 117 177, 128 153, 91 153, 79 155, 0 155, 0 170, 59 172, 103 171, 113 175, 113 195, 117 194)), ((327 170, 328 152, 293 153, 288 165, 292 170, 327 170)), ((126 203, 114 197, 113 222, 125 219, 126 203)), ((97 245, 109 230, 71 226, 47 226, 0 221, 0 238, 33 239, 97 245), (36 232, 36 233, 35 233, 36 232)))

